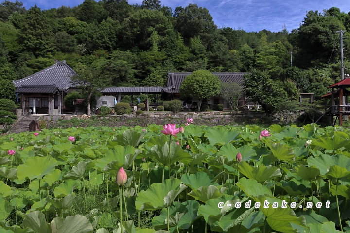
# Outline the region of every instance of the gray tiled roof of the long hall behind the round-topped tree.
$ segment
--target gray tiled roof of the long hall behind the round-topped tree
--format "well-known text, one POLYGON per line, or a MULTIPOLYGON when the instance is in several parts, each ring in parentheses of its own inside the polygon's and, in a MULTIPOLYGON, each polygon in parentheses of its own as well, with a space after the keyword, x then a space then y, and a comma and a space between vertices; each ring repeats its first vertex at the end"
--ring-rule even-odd
MULTIPOLYGON (((164 92, 180 93, 180 86, 184 79, 192 73, 168 73, 168 87, 174 86, 174 89, 167 89, 164 92)), ((221 82, 234 82, 243 84, 243 75, 247 73, 212 73, 218 76, 221 82)))

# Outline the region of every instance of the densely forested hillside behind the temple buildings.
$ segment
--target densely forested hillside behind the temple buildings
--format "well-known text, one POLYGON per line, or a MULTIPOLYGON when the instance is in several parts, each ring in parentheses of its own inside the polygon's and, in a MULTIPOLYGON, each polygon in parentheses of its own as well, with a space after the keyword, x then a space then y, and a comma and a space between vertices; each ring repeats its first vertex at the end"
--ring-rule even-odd
POLYGON ((3 1, 0 92, 12 95, 12 80, 66 60, 73 69, 93 68, 113 86, 163 86, 168 71, 254 69, 319 97, 340 80, 339 30, 350 32, 350 15, 336 7, 323 12, 310 9, 300 27, 288 33, 283 25, 280 32, 218 28, 210 12, 196 4, 171 9, 159 0, 144 0, 141 5, 85 0, 73 8, 41 10, 3 1))

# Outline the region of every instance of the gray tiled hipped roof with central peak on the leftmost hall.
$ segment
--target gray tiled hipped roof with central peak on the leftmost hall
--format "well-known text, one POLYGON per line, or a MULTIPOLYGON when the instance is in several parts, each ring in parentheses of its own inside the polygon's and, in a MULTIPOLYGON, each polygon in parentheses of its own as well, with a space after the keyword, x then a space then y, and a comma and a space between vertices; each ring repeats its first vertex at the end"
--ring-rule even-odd
MULTIPOLYGON (((26 78, 15 80, 16 92, 22 86, 56 86, 60 91, 66 91, 72 84, 70 77, 74 76, 75 71, 65 62, 56 62, 51 67, 47 67, 26 78)), ((35 90, 36 92, 36 90, 35 90)))

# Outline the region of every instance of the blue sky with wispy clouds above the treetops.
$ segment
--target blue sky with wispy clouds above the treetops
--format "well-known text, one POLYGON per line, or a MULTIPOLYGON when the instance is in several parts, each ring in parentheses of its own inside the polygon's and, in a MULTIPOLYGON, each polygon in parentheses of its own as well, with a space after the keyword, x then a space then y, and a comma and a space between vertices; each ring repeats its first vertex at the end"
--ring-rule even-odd
MULTIPOLYGON (((15 1, 15 0, 11 0, 15 1)), ((76 6, 84 0, 22 0, 28 9, 36 5, 42 10, 64 6, 76 6)), ((128 0, 129 4, 141 4, 142 0, 128 0)), ((243 29, 259 32, 267 29, 279 32, 285 24, 290 32, 297 29, 308 11, 321 12, 333 6, 341 12, 350 12, 349 0, 161 0, 161 4, 171 7, 186 7, 195 3, 205 7, 218 27, 243 29)))

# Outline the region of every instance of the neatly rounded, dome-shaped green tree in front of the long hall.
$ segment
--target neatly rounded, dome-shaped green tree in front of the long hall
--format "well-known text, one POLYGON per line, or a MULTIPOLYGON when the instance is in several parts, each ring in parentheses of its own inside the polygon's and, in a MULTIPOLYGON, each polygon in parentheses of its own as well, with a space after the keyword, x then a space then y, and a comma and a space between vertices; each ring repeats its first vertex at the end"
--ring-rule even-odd
POLYGON ((180 86, 181 97, 192 97, 198 104, 198 111, 203 99, 216 96, 221 91, 220 80, 209 70, 196 70, 187 76, 180 86))

